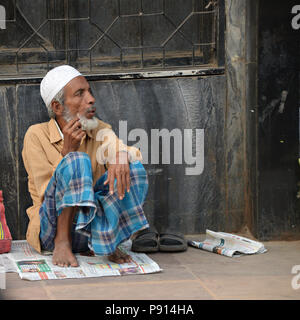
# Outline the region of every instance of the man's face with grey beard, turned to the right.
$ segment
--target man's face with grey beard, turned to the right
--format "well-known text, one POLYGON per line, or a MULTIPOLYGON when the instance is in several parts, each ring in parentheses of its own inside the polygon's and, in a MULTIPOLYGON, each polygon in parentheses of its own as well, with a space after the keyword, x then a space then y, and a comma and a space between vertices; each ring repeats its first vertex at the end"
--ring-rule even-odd
POLYGON ((64 88, 64 118, 66 121, 78 117, 83 129, 96 127, 95 98, 85 77, 78 76, 72 79, 64 88))

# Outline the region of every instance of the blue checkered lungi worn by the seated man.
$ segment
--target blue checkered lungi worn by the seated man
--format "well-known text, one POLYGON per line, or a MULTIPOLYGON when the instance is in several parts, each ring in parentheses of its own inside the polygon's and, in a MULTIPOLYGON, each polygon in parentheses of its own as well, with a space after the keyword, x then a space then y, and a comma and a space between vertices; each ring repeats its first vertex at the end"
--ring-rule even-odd
MULTIPOLYGON (((107 172, 93 186, 92 166, 84 152, 68 153, 57 166, 40 208, 42 250, 53 251, 57 217, 66 207, 78 207, 72 227, 72 250, 112 254, 130 236, 149 227, 143 203, 147 173, 139 162, 130 163, 130 192, 119 200, 104 185, 107 172)), ((115 180, 116 190, 116 180, 115 180)))

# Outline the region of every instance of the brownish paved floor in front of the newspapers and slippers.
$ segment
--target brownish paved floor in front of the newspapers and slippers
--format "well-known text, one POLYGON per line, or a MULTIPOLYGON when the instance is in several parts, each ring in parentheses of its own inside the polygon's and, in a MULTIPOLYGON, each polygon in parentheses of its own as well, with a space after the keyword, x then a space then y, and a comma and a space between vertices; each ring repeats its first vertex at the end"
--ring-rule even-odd
MULTIPOLYGON (((202 240, 203 235, 187 236, 202 240)), ((264 242, 264 254, 223 257, 188 247, 182 253, 153 253, 149 256, 161 273, 88 279, 25 281, 6 273, 2 299, 99 299, 99 300, 214 300, 300 299, 293 289, 292 268, 299 265, 300 241, 264 242)))

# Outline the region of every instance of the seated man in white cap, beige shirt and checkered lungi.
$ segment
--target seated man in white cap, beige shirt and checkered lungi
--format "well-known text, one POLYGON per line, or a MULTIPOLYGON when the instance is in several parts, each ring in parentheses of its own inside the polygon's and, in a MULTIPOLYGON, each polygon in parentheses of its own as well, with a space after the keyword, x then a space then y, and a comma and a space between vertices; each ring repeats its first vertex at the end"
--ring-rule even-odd
POLYGON ((53 263, 62 267, 78 266, 73 253, 89 249, 129 262, 119 244, 149 227, 139 150, 96 118, 89 83, 73 67, 50 70, 40 89, 51 119, 32 125, 24 138, 33 201, 27 209, 28 243, 39 252, 53 251, 53 263))

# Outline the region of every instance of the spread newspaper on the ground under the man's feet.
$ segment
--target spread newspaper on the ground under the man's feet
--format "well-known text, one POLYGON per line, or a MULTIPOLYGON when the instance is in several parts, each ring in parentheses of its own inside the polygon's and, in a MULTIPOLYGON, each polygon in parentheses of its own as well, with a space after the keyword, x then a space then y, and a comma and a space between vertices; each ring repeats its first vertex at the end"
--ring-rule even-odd
POLYGON ((117 264, 105 256, 76 254, 78 267, 59 267, 52 263, 51 255, 39 254, 26 240, 16 240, 12 241, 10 253, 0 256, 0 264, 2 263, 6 272, 18 272, 20 278, 24 280, 91 278, 162 271, 146 254, 132 252, 130 248, 130 240, 120 246, 122 251, 132 257, 131 263, 117 264))

